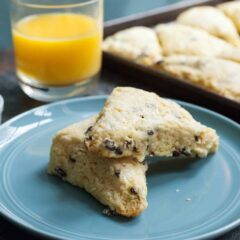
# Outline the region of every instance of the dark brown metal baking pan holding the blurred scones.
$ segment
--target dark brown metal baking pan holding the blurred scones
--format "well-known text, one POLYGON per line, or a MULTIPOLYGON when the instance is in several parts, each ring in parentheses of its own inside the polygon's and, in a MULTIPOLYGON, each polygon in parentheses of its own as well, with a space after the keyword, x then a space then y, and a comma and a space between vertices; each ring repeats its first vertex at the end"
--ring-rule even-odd
MULTIPOLYGON (((155 26, 158 23, 170 22, 187 8, 198 5, 216 5, 225 1, 185 1, 166 6, 143 14, 113 20, 105 23, 104 37, 110 36, 122 29, 132 26, 155 26)), ((121 74, 127 74, 138 81, 145 81, 160 89, 166 96, 192 102, 222 113, 240 122, 240 103, 222 97, 200 86, 172 77, 164 72, 148 68, 132 61, 114 56, 110 53, 103 54, 103 64, 121 74)))

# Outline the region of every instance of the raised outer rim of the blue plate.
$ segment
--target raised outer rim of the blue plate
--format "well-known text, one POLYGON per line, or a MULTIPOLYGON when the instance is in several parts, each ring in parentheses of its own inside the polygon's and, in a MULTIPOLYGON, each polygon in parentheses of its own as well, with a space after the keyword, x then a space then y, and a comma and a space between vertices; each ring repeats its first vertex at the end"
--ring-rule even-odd
MULTIPOLYGON (((13 118, 7 120, 6 122, 4 122, 3 124, 0 125, 0 132, 5 127, 9 126, 12 122, 17 121, 18 119, 21 119, 22 117, 24 117, 28 114, 31 114, 34 111, 36 111, 38 109, 41 109, 41 108, 54 107, 54 106, 63 105, 63 104, 71 104, 71 103, 74 103, 74 102, 84 102, 84 101, 92 101, 92 100, 106 100, 108 96, 109 95, 86 96, 86 97, 66 99, 66 100, 61 100, 61 101, 57 101, 57 102, 53 102, 53 103, 44 104, 42 106, 38 106, 38 107, 32 108, 28 111, 25 111, 21 114, 18 114, 16 116, 14 116, 13 118)), ((167 98, 167 99, 170 99, 170 98, 167 98)), ((181 100, 176 100, 176 99, 170 99, 170 100, 173 100, 173 101, 177 102, 178 104, 180 104, 183 107, 186 106, 186 107, 194 108, 194 109, 197 109, 198 111, 202 111, 204 113, 214 115, 215 117, 220 118, 221 120, 230 123, 234 127, 239 128, 239 126, 240 126, 240 124, 238 124, 234 120, 232 120, 232 119, 230 119, 230 118, 228 118, 228 117, 226 117, 226 116, 224 116, 220 113, 209 110, 207 108, 204 108, 204 107, 201 107, 201 106, 189 103, 189 102, 181 101, 181 100)), ((11 223, 16 225, 17 227, 20 227, 20 228, 26 230, 27 232, 29 232, 30 234, 33 234, 35 236, 44 236, 44 237, 48 237, 48 238, 51 238, 51 239, 65 239, 64 237, 58 236, 54 233, 49 233, 45 230, 42 230, 39 227, 32 226, 26 220, 23 220, 23 219, 19 218, 16 214, 9 211, 1 201, 0 201, 0 215, 3 218, 6 218, 7 220, 9 220, 11 223)), ((220 227, 220 228, 218 228, 214 231, 211 231, 211 232, 208 232, 208 233, 205 233, 205 234, 201 234, 201 235, 196 236, 196 237, 188 238, 188 240, 200 240, 200 239, 209 239, 209 238, 217 237, 217 236, 220 236, 220 235, 234 229, 235 227, 237 227, 239 225, 240 225, 240 217, 238 219, 236 219, 235 221, 232 221, 229 224, 225 225, 224 227, 220 227)), ((79 238, 79 239, 81 239, 81 238, 79 238)))

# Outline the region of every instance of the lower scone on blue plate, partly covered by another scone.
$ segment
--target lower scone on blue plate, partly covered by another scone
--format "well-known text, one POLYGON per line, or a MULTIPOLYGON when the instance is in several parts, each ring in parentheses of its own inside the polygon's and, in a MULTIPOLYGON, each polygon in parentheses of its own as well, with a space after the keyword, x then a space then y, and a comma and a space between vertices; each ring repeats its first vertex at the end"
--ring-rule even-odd
POLYGON ((108 160, 89 153, 84 132, 94 120, 74 124, 56 134, 48 173, 84 188, 118 214, 137 216, 147 207, 147 166, 132 159, 108 160))

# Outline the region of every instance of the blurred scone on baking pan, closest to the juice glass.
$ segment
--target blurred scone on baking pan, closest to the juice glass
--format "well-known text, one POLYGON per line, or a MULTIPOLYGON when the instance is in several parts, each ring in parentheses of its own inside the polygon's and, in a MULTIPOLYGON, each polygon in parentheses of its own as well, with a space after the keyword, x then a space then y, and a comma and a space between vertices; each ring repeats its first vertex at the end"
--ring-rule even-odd
POLYGON ((128 28, 106 38, 103 50, 146 66, 162 59, 156 33, 143 26, 128 28))

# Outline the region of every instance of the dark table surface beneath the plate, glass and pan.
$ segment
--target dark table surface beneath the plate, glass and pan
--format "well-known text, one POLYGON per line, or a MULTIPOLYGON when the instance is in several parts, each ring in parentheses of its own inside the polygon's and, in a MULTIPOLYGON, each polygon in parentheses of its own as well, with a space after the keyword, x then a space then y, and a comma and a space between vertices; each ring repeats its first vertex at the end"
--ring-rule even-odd
MULTIPOLYGON (((4 97, 5 107, 3 112, 3 121, 20 114, 34 107, 43 105, 27 97, 19 88, 17 78, 14 73, 14 62, 11 51, 0 52, 0 94, 4 97)), ((108 94, 115 86, 133 86, 150 91, 154 91, 161 96, 166 96, 156 87, 150 86, 147 83, 141 83, 137 79, 129 79, 127 76, 112 72, 109 69, 103 68, 99 84, 96 89, 92 90, 91 95, 108 94)), ((171 96, 166 96, 171 97, 171 96)), ((2 160, 2 159, 0 159, 2 160)), ((20 229, 15 224, 9 222, 4 217, 0 216, 0 240, 13 239, 37 239, 35 236, 28 233, 26 230, 20 229)), ((39 237, 38 237, 39 239, 39 237)), ((217 240, 239 240, 240 227, 231 232, 217 238, 217 240)))

